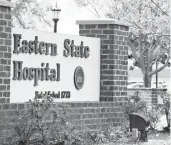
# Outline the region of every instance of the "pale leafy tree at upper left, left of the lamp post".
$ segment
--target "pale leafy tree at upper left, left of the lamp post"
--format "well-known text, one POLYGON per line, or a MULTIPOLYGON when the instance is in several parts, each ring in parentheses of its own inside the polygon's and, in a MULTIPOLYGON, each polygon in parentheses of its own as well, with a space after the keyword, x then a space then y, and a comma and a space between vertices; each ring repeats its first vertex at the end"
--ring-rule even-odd
POLYGON ((36 22, 43 25, 50 25, 45 16, 50 7, 40 7, 36 0, 14 0, 15 7, 12 9, 13 26, 24 29, 36 28, 36 22))

